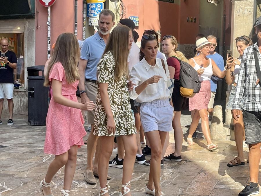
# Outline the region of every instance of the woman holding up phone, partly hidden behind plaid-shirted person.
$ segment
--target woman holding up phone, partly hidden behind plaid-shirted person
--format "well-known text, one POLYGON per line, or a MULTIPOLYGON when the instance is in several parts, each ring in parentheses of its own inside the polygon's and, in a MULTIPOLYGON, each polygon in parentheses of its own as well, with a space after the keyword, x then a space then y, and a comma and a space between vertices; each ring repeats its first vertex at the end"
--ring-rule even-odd
MULTIPOLYGON (((238 74, 239 74, 240 63, 241 63, 241 58, 243 56, 243 52, 248 46, 253 44, 251 39, 246 35, 237 37, 235 40, 236 40, 237 50, 240 56, 237 59, 235 57, 228 57, 227 55, 226 64, 227 64, 228 71, 226 73, 226 83, 228 85, 232 84, 232 89, 230 91, 229 100, 226 105, 226 109, 227 109, 226 112, 232 110, 235 88, 238 82, 238 74)), ((238 121, 236 121, 233 118, 233 123, 234 123, 234 132, 235 132, 235 143, 237 146, 238 156, 235 157, 234 160, 229 161, 229 163, 227 164, 227 166, 229 167, 245 165, 244 153, 243 153, 244 123, 243 123, 242 111, 240 111, 240 117, 238 118, 238 121)))

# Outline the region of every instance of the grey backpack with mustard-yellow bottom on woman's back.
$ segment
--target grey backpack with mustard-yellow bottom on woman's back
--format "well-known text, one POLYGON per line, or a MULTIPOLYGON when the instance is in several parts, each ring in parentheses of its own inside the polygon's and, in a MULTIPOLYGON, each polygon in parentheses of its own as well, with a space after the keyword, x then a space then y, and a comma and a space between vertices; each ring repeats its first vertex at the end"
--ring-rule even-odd
POLYGON ((181 61, 177 56, 171 56, 180 62, 180 94, 191 98, 200 91, 201 82, 197 71, 187 62, 181 61))

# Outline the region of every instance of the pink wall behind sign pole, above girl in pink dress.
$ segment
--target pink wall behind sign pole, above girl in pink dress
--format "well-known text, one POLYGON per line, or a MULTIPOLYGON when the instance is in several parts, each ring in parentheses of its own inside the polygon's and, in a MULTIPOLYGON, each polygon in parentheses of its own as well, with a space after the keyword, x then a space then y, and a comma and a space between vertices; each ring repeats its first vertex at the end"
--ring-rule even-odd
MULTIPOLYGON (((57 0, 51 6, 51 46, 55 43, 57 37, 64 32, 74 33, 74 0, 57 0)), ((47 60, 47 8, 42 6, 38 0, 35 1, 38 17, 36 15, 35 23, 38 20, 38 29, 35 30, 35 64, 44 65, 47 60)), ((83 32, 83 0, 77 3, 77 38, 82 39, 83 32)))

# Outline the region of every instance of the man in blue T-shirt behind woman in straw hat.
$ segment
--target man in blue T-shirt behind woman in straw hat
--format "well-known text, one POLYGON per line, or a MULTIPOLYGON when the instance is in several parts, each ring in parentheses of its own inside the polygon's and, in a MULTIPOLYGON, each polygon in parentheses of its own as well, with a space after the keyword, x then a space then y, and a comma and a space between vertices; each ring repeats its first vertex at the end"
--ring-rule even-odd
MULTIPOLYGON (((215 63, 217 64, 217 66, 219 67, 219 69, 221 71, 223 71, 224 70, 224 59, 220 54, 215 52, 215 49, 218 45, 217 37, 215 37, 214 35, 209 35, 207 37, 207 40, 212 43, 210 45, 210 51, 209 51, 210 55, 207 55, 207 57, 213 59, 215 61, 215 63)), ((216 95, 216 91, 217 91, 218 80, 220 80, 220 79, 217 76, 212 76, 211 80, 210 80, 211 98, 209 100, 209 105, 208 105, 209 116, 212 116, 212 114, 213 114, 213 110, 214 110, 213 106, 214 106, 214 100, 215 100, 215 95, 216 95)))

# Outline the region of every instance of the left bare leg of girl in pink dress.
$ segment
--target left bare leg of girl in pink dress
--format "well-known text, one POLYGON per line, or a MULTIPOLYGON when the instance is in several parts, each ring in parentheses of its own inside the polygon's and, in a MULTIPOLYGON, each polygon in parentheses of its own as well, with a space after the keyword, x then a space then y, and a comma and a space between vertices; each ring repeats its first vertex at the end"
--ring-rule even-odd
MULTIPOLYGON (((50 183, 52 180, 52 177, 61 169, 68 161, 68 151, 60 154, 60 155, 55 155, 55 159, 50 163, 46 176, 45 176, 45 181, 46 183, 50 183)), ((51 189, 50 187, 44 187, 42 186, 44 195, 50 195, 51 194, 51 189)))

